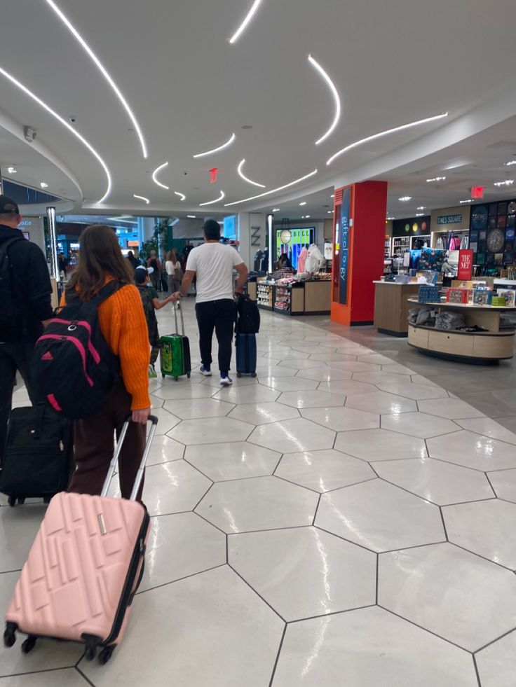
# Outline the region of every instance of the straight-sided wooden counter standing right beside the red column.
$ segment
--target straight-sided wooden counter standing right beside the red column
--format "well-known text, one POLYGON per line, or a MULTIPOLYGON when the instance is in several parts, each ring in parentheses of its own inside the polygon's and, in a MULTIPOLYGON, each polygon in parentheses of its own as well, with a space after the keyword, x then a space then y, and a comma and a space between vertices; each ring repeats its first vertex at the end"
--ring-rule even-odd
POLYGON ((420 284, 373 282, 374 326, 381 334, 407 336, 408 298, 418 293, 420 284))

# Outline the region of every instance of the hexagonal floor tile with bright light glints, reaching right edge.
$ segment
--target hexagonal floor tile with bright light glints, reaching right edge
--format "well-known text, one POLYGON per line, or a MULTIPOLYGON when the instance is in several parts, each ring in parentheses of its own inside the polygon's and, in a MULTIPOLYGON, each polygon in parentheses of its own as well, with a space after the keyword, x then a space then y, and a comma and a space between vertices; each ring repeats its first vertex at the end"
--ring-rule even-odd
POLYGON ((516 468, 514 446, 473 432, 458 431, 436 436, 428 439, 427 444, 433 458, 466 468, 482 471, 516 468))

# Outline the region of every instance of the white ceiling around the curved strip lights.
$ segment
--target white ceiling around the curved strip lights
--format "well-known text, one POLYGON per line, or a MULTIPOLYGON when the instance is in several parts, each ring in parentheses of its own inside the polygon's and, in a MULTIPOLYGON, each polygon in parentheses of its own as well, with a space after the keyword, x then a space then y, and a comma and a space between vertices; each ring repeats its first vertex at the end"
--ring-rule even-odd
POLYGON ((468 197, 472 180, 492 186, 494 177, 503 178, 503 161, 516 153, 509 144, 486 148, 516 144, 513 0, 263 0, 233 45, 228 39, 251 0, 55 1, 109 70, 149 148, 145 160, 127 112, 47 1, 5 0, 0 68, 65 120, 76 118, 73 126, 105 160, 113 185, 98 205, 106 190, 98 160, 2 75, 0 132, 20 141, 22 125, 30 125, 38 137, 11 146, 13 137, 0 133, 0 165, 16 164, 16 181, 32 186, 44 176, 46 190, 69 198, 77 210, 181 216, 283 204, 282 213, 295 217, 296 200, 315 194, 298 217, 324 218, 334 183, 377 178, 391 182, 388 210, 408 216, 415 207, 400 207, 398 192, 421 198, 417 205, 454 205, 468 197), (314 141, 332 122, 334 99, 308 53, 330 74, 342 104, 339 125, 320 146, 314 141), (325 164, 353 141, 444 111, 445 120, 376 139, 325 164), (232 146, 194 160, 232 132, 232 146), (266 188, 240 179, 243 158, 245 174, 266 188), (421 181, 459 158, 468 167, 446 174, 451 181, 443 188, 421 181), (166 161, 158 180, 170 190, 151 179, 166 161), (212 167, 219 168, 214 184, 212 167), (318 174, 299 186, 224 206, 313 169, 318 174), (175 190, 186 195, 184 202, 175 190), (223 202, 199 207, 221 190, 223 202))

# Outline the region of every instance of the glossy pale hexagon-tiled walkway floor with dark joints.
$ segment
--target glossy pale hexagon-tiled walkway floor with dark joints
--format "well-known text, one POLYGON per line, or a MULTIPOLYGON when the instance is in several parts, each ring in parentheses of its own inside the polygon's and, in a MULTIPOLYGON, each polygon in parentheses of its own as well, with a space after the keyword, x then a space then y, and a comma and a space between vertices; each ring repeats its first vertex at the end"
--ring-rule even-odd
MULTIPOLYGON (((0 687, 514 687, 516 435, 313 320, 263 314, 258 347, 230 389, 151 382, 147 569, 111 662, 17 644, 0 687)), ((42 515, 0 508, 1 608, 42 515)))

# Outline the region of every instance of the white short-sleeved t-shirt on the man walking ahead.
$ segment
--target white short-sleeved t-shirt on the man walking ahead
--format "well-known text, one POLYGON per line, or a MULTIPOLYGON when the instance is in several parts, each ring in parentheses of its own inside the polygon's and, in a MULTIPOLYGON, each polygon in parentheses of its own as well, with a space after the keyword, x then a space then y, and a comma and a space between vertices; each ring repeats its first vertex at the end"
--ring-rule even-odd
POLYGON ((197 275, 197 303, 233 298, 233 268, 243 263, 238 251, 222 243, 204 243, 190 251, 186 270, 197 275))

